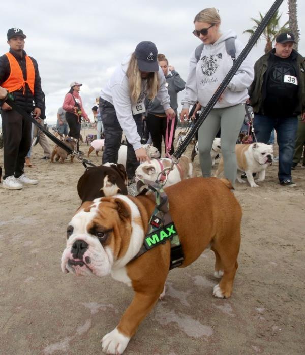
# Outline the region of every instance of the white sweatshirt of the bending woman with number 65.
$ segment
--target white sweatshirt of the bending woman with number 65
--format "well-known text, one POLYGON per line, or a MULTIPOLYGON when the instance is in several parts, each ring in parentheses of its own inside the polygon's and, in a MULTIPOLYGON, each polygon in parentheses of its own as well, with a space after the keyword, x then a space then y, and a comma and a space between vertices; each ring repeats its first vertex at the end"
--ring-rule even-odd
MULTIPOLYGON (((107 85, 101 90, 100 96, 102 99, 110 102, 115 109, 118 122, 134 150, 142 147, 141 138, 137 132, 136 122, 132 116, 132 101, 130 99, 129 82, 126 76, 130 56, 125 58, 121 66, 118 66, 112 74, 107 85)), ((170 98, 165 86, 166 81, 161 67, 159 67, 159 85, 156 98, 160 100, 161 105, 165 110, 170 108, 170 98)), ((142 79, 142 92, 140 94, 142 102, 146 97, 147 80, 142 79)))

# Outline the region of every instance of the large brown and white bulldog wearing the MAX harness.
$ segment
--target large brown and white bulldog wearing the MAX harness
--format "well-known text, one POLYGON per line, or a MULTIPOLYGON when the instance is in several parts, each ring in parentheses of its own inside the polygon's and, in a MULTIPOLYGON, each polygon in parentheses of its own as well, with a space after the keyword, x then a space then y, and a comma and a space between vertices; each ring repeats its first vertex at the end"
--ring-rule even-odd
MULTIPOLYGON (((221 278, 213 291, 218 298, 231 296, 238 267, 241 207, 231 187, 224 179, 193 178, 165 189, 184 252, 180 267, 190 265, 210 247, 216 256, 214 275, 221 278)), ((119 324, 102 339, 102 350, 107 354, 123 353, 164 289, 170 265, 169 241, 133 260, 147 233, 154 201, 149 194, 116 195, 85 202, 67 229, 67 246, 62 256, 64 273, 111 274, 135 292, 119 324)))

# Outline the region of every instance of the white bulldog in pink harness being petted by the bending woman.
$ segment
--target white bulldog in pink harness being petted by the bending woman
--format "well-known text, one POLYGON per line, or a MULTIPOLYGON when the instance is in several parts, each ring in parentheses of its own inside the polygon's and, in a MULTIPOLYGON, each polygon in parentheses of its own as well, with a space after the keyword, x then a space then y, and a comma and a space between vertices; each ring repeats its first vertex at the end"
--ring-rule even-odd
MULTIPOLYGON (((159 177, 159 181, 165 180, 165 175, 159 174, 164 168, 169 168, 172 164, 170 158, 151 159, 150 163, 141 163, 135 172, 135 181, 140 179, 156 181, 159 177)), ((167 181, 164 186, 171 186, 177 182, 190 178, 193 176, 193 165, 191 160, 186 155, 182 155, 179 163, 173 166, 173 169, 167 172, 167 181)))

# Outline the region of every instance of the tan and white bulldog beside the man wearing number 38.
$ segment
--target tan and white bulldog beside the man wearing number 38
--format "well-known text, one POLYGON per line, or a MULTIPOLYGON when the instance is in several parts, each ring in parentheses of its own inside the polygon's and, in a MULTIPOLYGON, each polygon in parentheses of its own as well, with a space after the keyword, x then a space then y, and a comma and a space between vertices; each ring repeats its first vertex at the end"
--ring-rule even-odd
MULTIPOLYGON (((257 182, 265 180, 266 169, 273 163, 273 147, 265 143, 252 144, 236 144, 235 146, 237 169, 245 171, 247 180, 251 187, 258 187, 253 179, 252 173, 258 173, 257 182)), ((219 177, 224 170, 223 158, 221 158, 218 169, 215 173, 219 177)), ((237 180, 239 182, 246 182, 242 180, 237 172, 237 180)))

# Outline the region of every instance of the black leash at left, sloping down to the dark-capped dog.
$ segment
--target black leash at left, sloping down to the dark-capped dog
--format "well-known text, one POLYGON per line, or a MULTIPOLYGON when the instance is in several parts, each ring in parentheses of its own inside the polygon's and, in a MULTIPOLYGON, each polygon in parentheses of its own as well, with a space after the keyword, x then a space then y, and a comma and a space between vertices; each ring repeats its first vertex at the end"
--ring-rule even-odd
POLYGON ((10 105, 15 111, 17 111, 22 117, 25 117, 29 121, 31 121, 33 124, 36 125, 37 128, 39 128, 40 131, 42 131, 47 137, 50 138, 51 141, 53 141, 55 144, 58 145, 58 147, 63 148, 68 154, 74 155, 77 157, 78 160, 82 163, 82 165, 87 168, 87 165, 90 165, 92 167, 95 167, 93 163, 89 162, 87 159, 83 159, 81 155, 76 152, 75 150, 72 150, 70 147, 68 147, 64 142, 60 141, 57 137, 55 137, 51 132, 46 130, 46 128, 41 125, 35 118, 31 116, 28 112, 23 110, 20 106, 16 105, 14 101, 12 101, 10 98, 7 98, 5 102, 10 105))

